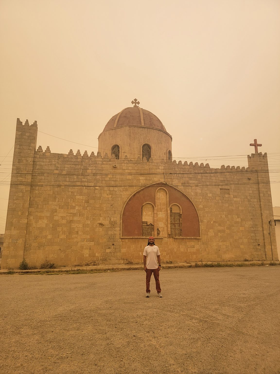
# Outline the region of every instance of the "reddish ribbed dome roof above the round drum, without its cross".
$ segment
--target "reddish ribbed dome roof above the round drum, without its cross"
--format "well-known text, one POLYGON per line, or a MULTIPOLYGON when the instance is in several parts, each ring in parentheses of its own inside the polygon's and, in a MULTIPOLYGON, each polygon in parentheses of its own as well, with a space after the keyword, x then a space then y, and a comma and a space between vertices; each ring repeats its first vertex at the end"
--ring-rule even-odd
POLYGON ((103 132, 112 128, 124 126, 144 126, 167 132, 161 120, 159 120, 155 114, 137 106, 125 108, 115 114, 115 116, 108 121, 103 132))

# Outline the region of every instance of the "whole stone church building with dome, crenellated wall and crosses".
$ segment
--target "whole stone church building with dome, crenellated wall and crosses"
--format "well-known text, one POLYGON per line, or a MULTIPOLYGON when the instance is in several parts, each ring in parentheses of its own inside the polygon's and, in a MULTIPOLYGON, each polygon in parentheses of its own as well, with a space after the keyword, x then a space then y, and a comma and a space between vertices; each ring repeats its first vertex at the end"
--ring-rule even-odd
POLYGON ((172 160, 161 120, 133 107, 113 116, 97 154, 36 145, 16 124, 1 269, 140 263, 154 236, 162 263, 278 260, 267 154, 248 168, 172 160), (36 150, 37 148, 37 150, 36 150))

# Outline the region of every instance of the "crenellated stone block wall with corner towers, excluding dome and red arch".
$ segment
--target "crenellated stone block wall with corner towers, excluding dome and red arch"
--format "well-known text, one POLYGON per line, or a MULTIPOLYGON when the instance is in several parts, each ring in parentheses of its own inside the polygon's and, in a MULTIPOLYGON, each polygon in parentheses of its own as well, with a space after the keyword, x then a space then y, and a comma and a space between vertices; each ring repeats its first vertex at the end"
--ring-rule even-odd
POLYGON ((156 238, 163 263, 278 259, 266 155, 252 155, 247 169, 116 160, 34 151, 36 124, 16 131, 2 269, 23 258, 35 266, 46 258, 60 266, 141 262, 147 238, 122 238, 121 214, 156 183, 183 192, 200 221, 200 237, 156 238))

